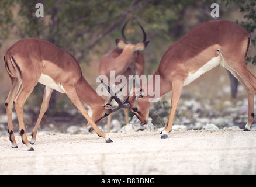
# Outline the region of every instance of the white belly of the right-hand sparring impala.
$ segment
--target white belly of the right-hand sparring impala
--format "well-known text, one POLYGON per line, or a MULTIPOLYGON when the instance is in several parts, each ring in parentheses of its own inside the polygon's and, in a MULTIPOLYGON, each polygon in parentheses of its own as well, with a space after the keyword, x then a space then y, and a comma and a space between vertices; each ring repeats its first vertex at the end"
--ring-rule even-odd
POLYGON ((221 56, 214 57, 212 58, 212 60, 208 61, 205 65, 200 67, 198 71, 196 71, 195 73, 191 74, 191 72, 189 72, 188 77, 186 77, 183 86, 190 84, 192 81, 200 77, 205 72, 212 70, 212 68, 220 64, 220 61, 222 61, 221 56))

